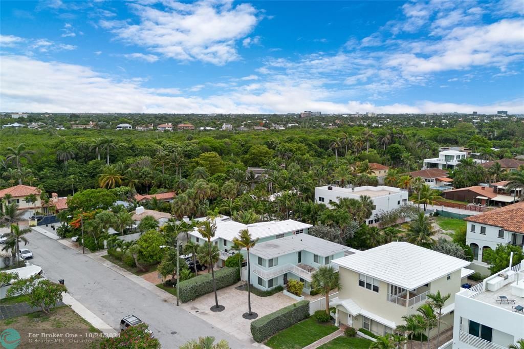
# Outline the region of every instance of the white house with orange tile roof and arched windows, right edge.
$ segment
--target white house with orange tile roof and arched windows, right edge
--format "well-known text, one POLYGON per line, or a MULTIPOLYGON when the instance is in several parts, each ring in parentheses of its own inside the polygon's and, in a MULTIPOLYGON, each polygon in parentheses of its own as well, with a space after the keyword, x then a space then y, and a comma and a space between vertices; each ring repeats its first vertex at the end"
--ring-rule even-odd
MULTIPOLYGON (((473 251, 473 263, 487 267, 484 252, 498 244, 524 248, 524 202, 466 217, 466 244, 473 251)), ((486 269, 479 269, 484 271, 486 269)))

